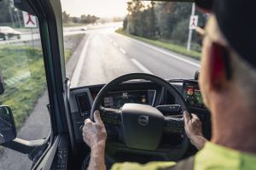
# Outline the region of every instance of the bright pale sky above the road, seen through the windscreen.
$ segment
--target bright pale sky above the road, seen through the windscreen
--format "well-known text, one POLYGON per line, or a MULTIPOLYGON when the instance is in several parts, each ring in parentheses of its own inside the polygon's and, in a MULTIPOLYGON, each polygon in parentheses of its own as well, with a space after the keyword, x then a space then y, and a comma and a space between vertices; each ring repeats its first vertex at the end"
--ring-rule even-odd
POLYGON ((72 16, 95 14, 98 17, 125 16, 128 0, 61 0, 62 10, 72 16))

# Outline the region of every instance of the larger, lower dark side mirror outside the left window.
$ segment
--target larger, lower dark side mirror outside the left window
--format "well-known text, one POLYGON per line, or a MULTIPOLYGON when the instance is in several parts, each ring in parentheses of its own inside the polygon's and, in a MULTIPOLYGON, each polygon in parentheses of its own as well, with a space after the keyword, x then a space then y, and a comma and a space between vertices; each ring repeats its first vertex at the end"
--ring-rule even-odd
POLYGON ((0 144, 8 143, 17 136, 15 119, 9 106, 0 106, 0 144))

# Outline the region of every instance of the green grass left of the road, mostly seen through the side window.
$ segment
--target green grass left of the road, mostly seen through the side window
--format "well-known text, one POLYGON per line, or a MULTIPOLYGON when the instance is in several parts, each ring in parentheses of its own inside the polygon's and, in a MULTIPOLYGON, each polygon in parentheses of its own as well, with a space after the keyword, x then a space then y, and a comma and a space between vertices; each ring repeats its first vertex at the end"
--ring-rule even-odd
MULTIPOLYGON (((68 59, 71 50, 66 50, 65 53, 68 59)), ((16 127, 20 128, 46 89, 42 49, 2 46, 0 67, 6 82, 5 93, 0 96, 0 104, 12 108, 16 127)))

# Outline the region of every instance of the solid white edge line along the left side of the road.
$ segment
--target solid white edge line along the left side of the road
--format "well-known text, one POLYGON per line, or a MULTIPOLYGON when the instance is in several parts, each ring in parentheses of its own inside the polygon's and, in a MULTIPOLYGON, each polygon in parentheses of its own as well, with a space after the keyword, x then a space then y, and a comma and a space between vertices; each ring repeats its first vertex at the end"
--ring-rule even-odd
POLYGON ((79 78, 80 78, 80 75, 81 75, 81 72, 82 72, 82 69, 83 69, 85 54, 87 52, 87 48, 88 48, 88 45, 89 45, 89 42, 90 42, 90 38, 91 38, 91 35, 86 40, 86 42, 84 44, 84 48, 82 49, 82 52, 80 54, 78 64, 77 64, 75 70, 73 71, 73 76, 72 76, 72 79, 71 79, 71 88, 76 88, 79 85, 79 78))

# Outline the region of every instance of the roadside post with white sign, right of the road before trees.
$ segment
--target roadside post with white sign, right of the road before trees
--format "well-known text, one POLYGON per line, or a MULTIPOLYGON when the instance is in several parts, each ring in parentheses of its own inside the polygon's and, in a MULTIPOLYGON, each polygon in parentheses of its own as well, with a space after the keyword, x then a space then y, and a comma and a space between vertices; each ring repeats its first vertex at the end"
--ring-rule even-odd
POLYGON ((193 31, 196 29, 197 25, 198 25, 198 15, 195 15, 195 3, 193 3, 192 13, 189 21, 189 39, 188 39, 188 46, 187 46, 188 51, 190 51, 191 49, 193 31))

